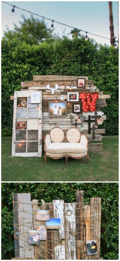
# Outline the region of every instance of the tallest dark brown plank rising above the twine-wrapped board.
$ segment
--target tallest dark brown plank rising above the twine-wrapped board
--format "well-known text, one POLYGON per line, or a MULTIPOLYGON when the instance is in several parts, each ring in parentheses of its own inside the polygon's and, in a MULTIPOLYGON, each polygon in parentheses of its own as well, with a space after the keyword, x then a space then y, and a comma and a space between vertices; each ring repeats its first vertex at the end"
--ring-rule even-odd
POLYGON ((84 259, 83 190, 76 191, 77 259, 84 259))

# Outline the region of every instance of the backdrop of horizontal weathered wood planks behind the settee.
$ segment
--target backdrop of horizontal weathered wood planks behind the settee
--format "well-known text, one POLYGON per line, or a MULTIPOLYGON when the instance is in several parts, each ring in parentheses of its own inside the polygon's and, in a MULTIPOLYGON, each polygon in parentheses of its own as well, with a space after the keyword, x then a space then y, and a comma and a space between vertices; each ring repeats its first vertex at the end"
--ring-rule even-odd
MULTIPOLYGON (((77 76, 78 77, 78 76, 77 76)), ((78 114, 73 114, 73 103, 70 102, 69 105, 67 104, 67 117, 59 117, 59 118, 51 118, 48 115, 48 102, 49 100, 51 102, 55 102, 56 96, 57 101, 61 102, 59 99, 60 96, 63 94, 65 96, 65 100, 67 100, 67 92, 70 91, 77 91, 79 92, 89 92, 93 90, 93 87, 96 92, 99 94, 99 99, 96 102, 96 111, 98 112, 98 115, 101 116, 100 120, 98 121, 98 125, 103 124, 103 121, 106 120, 106 116, 102 112, 102 107, 105 107, 106 105, 106 99, 110 99, 110 94, 104 94, 102 91, 99 91, 96 86, 94 86, 94 82, 91 84, 91 88, 89 88, 88 77, 86 76, 86 88, 75 88, 77 86, 77 77, 76 76, 58 76, 58 75, 33 75, 33 81, 26 81, 21 82, 22 91, 42 91, 42 150, 44 151, 44 138, 45 134, 49 133, 50 130, 58 126, 62 129, 69 129, 71 127, 71 120, 70 116, 73 115, 73 123, 75 123, 75 119, 78 118, 78 114), (55 84, 58 83, 59 88, 55 91, 55 93, 52 95, 51 91, 47 89, 46 85, 49 84, 50 87, 55 87, 55 84), (62 84, 64 83, 64 86, 62 84), (73 87, 73 89, 69 89, 69 86, 73 87), (100 106, 98 104, 102 100, 103 104, 100 106)), ((81 76, 80 76, 81 77, 81 76)), ((10 99, 13 100, 14 96, 10 96, 10 99)), ((79 100, 81 102, 81 99, 79 100)), ((86 116, 86 120, 88 120, 88 115, 93 115, 94 112, 83 112, 83 115, 86 116)), ((80 121, 79 121, 80 122, 80 121)), ((91 127, 93 126, 94 122, 91 122, 91 127)), ((78 128, 80 126, 77 126, 78 128)), ((95 126, 96 127, 96 126, 95 126)), ((87 135, 87 138, 89 140, 89 150, 91 151, 101 151, 103 150, 103 143, 95 143, 92 144, 92 130, 91 134, 88 134, 88 122, 84 122, 83 127, 81 128, 83 130, 82 133, 85 133, 87 135)), ((95 130, 95 141, 101 141, 102 135, 105 133, 105 129, 96 129, 95 130)))

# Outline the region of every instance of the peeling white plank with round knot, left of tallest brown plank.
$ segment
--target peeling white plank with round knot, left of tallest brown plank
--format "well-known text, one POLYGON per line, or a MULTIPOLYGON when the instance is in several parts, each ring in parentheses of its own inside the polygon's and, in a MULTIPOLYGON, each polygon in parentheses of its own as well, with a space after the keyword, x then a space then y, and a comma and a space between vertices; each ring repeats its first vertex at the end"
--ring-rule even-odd
POLYGON ((65 203, 66 259, 76 259, 75 203, 65 203))

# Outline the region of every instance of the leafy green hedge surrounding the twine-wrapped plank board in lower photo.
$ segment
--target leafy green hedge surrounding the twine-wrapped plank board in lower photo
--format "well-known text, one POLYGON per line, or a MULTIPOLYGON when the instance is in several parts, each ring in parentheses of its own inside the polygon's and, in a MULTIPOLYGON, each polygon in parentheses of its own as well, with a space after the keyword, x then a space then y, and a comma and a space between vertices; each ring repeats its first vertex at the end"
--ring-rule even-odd
POLYGON ((84 202, 101 197, 101 256, 118 259, 118 183, 2 183, 2 259, 14 257, 13 193, 75 202, 76 190, 84 190, 84 202))

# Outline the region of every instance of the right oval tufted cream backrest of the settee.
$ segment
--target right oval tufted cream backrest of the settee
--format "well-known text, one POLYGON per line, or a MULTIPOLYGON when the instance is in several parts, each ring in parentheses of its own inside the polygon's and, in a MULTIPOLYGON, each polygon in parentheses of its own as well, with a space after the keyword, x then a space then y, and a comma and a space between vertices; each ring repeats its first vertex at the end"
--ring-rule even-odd
POLYGON ((66 134, 68 142, 79 142, 80 141, 80 132, 78 129, 71 128, 67 131, 66 134))

